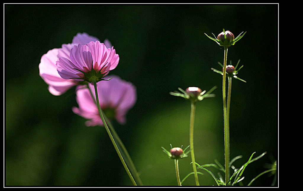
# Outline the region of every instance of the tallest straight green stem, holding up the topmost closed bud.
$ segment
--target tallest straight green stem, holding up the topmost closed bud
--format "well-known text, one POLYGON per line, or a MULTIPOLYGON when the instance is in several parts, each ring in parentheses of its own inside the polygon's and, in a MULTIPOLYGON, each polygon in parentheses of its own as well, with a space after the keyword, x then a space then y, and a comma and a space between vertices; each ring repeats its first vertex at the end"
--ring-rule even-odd
POLYGON ((228 144, 228 126, 227 126, 227 111, 226 111, 226 98, 225 98, 225 78, 226 78, 226 62, 227 62, 227 50, 228 47, 224 47, 224 65, 223 65, 223 83, 222 83, 222 94, 223 94, 223 114, 224 114, 224 150, 225 150, 225 183, 229 181, 229 144, 228 144))

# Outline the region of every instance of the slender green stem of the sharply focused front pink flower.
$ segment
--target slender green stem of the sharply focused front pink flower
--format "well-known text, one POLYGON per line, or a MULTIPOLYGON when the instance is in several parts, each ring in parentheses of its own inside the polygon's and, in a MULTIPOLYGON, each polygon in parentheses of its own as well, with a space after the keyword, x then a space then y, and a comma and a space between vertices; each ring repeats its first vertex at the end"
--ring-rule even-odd
POLYGON ((115 142, 115 140, 114 140, 114 138, 113 138, 111 132, 109 131, 106 122, 105 122, 105 119, 104 119, 104 116, 103 116, 103 113, 102 113, 102 110, 101 110, 101 107, 100 107, 100 103, 99 103, 99 97, 98 97, 98 91, 97 91, 97 84, 96 84, 96 82, 93 82, 93 83, 94 83, 94 87, 95 87, 97 106, 98 106, 99 114, 100 114, 100 117, 101 117, 102 122, 103 122, 103 124, 104 124, 104 127, 105 127, 105 129, 106 129, 106 131, 107 131, 107 133, 108 133, 109 138, 111 139, 111 141, 112 141, 112 143, 113 143, 113 145, 114 145, 114 147, 115 147, 115 149, 116 149, 116 152, 117 152, 117 154, 118 154, 118 156, 119 156, 119 158, 120 158, 120 160, 121 160, 121 162, 122 162, 122 164, 123 164, 123 166, 124 166, 124 168, 125 168, 126 173, 128 174, 128 176, 129 176, 129 178, 131 179, 132 183, 133 183, 135 186, 137 186, 137 184, 136 184, 134 178, 132 177, 132 174, 129 172, 129 170, 128 170, 126 164, 125 164, 125 161, 124 161, 124 159, 123 159, 123 157, 122 157, 122 155, 121 155, 121 153, 120 153, 120 151, 119 151, 119 149, 118 149, 118 146, 117 146, 117 144, 116 144, 116 142, 115 142))

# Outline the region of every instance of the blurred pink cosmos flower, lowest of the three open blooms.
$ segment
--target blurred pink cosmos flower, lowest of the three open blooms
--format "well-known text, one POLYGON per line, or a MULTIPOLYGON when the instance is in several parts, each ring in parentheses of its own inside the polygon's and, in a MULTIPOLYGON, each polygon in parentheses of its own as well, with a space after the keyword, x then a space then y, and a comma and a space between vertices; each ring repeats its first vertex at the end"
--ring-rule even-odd
MULTIPOLYGON (((124 124, 126 113, 136 102, 136 88, 131 82, 126 82, 118 76, 111 75, 108 77, 112 77, 112 79, 97 82, 101 109, 108 119, 116 119, 120 124, 124 124)), ((72 111, 79 116, 90 119, 85 122, 86 126, 104 126, 95 102, 94 85, 89 83, 89 88, 94 97, 92 97, 88 88, 78 88, 76 90, 76 100, 79 108, 73 107, 72 111)))

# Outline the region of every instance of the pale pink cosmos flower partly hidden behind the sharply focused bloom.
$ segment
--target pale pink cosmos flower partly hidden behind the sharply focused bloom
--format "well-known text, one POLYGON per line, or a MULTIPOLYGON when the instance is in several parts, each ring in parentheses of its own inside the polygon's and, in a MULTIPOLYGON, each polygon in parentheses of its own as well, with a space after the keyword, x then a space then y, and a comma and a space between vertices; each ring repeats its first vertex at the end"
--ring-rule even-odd
MULTIPOLYGON (((96 37, 90 36, 87 33, 78 33, 74 36, 72 43, 62 44, 61 48, 49 50, 46 54, 42 55, 39 64, 39 75, 48 84, 48 91, 53 95, 62 95, 69 88, 77 85, 77 81, 73 79, 63 79, 57 71, 56 61, 58 58, 65 57, 70 59, 71 49, 80 44, 86 44, 91 41, 99 41, 96 37)), ((111 43, 105 39, 104 44, 107 48, 111 48, 111 43)))

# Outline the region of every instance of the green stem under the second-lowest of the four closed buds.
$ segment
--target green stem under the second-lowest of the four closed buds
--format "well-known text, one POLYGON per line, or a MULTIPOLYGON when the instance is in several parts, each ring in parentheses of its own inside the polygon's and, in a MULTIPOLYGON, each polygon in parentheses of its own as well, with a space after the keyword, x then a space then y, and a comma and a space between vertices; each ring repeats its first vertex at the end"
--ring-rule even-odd
POLYGON ((189 122, 189 142, 190 142, 190 153, 191 153, 191 160, 192 160, 192 168, 194 170, 195 181, 196 185, 200 186, 196 168, 196 161, 195 161, 195 153, 194 153, 194 122, 195 122, 195 102, 191 102, 191 111, 190 111, 190 122, 189 122))

